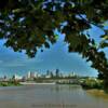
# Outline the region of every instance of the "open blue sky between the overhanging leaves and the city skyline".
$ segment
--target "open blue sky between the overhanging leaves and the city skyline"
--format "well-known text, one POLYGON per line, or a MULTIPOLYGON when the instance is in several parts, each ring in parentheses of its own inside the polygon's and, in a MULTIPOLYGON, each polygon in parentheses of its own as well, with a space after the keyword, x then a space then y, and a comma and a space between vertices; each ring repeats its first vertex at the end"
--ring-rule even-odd
MULTIPOLYGON (((93 26, 93 29, 89 31, 96 42, 100 41, 99 35, 104 33, 100 29, 93 26)), ((56 31, 56 33, 58 32, 56 31)), ((96 77, 98 72, 90 67, 91 63, 86 63, 77 53, 68 53, 67 43, 64 42, 64 35, 58 35, 58 41, 51 45, 50 49, 45 49, 44 52, 39 51, 35 58, 29 58, 24 53, 17 53, 11 48, 5 48, 3 45, 4 41, 0 40, 0 77, 11 77, 15 73, 25 76, 28 71, 45 73, 46 70, 54 71, 55 69, 59 69, 63 73, 75 71, 80 76, 96 77)), ((108 49, 104 51, 108 55, 108 49)))

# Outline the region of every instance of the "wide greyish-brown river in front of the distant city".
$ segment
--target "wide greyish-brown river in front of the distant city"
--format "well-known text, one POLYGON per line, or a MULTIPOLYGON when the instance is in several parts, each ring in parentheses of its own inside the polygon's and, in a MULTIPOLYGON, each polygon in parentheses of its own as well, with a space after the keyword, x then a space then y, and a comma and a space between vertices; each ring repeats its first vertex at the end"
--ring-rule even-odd
POLYGON ((108 98, 79 85, 8 86, 0 87, 0 108, 108 108, 108 98))

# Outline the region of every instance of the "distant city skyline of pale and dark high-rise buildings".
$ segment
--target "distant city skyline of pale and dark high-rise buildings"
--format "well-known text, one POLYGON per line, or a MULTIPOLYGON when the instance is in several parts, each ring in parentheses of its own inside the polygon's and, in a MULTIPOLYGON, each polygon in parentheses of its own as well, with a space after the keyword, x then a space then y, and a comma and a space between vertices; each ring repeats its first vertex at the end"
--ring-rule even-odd
POLYGON ((18 75, 18 73, 14 73, 11 77, 9 76, 3 76, 0 77, 0 79, 29 79, 29 78, 68 78, 68 77, 87 77, 87 76, 81 76, 76 73, 75 71, 71 72, 67 72, 67 73, 63 73, 59 69, 56 69, 54 71, 48 70, 44 73, 43 72, 39 72, 39 71, 27 71, 25 72, 25 75, 18 75))

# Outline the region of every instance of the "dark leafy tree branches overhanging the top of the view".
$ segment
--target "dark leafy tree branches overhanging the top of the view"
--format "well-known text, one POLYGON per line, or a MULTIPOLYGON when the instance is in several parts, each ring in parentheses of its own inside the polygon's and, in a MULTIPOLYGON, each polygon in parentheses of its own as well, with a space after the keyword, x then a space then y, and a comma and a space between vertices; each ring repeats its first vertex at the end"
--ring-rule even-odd
MULTIPOLYGON (((104 73, 108 85, 108 0, 3 0, 0 2, 0 38, 15 52, 33 57, 39 49, 56 42, 54 29, 65 33, 69 52, 77 52, 104 73), (95 25, 105 32, 98 46, 89 32, 95 25)), ((95 37, 95 36, 94 36, 95 37)), ((43 50, 41 50, 43 51, 43 50)), ((108 87, 108 86, 107 86, 108 87)))

